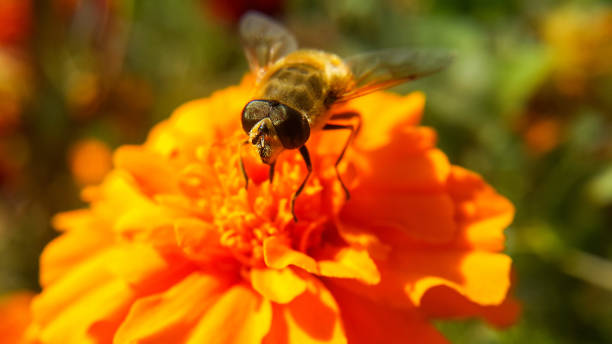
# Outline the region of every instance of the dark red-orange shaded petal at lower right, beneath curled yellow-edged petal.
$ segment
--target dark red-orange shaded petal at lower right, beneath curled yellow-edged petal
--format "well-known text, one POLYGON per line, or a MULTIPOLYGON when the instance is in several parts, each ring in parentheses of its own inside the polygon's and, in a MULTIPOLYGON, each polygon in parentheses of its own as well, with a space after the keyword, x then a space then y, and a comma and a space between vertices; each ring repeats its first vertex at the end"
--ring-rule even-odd
POLYGON ((434 318, 482 317, 492 325, 506 327, 521 313, 520 303, 512 297, 496 306, 482 306, 446 286, 431 288, 421 300, 421 311, 434 318))

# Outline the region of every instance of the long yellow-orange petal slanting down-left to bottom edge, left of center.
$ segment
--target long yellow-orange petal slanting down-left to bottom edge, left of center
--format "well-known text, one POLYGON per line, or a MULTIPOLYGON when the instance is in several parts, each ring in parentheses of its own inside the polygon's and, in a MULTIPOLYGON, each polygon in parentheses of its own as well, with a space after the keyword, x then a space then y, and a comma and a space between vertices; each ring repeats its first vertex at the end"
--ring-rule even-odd
POLYGON ((179 342, 227 288, 211 275, 192 273, 168 291, 134 302, 116 343, 179 342))

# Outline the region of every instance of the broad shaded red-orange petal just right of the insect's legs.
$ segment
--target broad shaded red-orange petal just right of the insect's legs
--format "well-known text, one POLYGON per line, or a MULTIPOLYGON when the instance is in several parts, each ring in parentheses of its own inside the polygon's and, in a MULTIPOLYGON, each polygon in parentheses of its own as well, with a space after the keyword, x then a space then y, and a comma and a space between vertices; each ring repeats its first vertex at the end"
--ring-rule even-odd
POLYGON ((398 246, 452 240, 455 206, 445 192, 450 163, 434 146, 430 129, 407 127, 394 132, 387 146, 358 154, 360 175, 342 221, 362 228, 396 228, 399 236, 381 239, 398 246))

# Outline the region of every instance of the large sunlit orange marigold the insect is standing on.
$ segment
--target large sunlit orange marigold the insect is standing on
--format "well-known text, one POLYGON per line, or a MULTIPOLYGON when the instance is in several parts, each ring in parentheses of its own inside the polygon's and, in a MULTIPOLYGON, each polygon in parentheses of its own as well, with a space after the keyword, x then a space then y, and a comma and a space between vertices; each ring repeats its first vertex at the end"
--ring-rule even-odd
POLYGON ((115 169, 84 190, 88 209, 63 213, 41 259, 43 292, 29 333, 43 343, 443 343, 436 317, 507 325, 512 205, 449 164, 435 132, 417 126, 420 93, 376 93, 346 108, 363 129, 308 142, 276 178, 246 158, 240 113, 250 79, 180 107, 115 169))

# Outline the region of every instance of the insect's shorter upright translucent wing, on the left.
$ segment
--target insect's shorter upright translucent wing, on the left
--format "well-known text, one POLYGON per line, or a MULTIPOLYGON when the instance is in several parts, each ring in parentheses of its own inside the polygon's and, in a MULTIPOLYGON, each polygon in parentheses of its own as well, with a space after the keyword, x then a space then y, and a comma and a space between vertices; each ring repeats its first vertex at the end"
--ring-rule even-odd
POLYGON ((242 17, 240 37, 249 66, 256 74, 297 49, 295 38, 285 27, 258 12, 248 12, 242 17))

